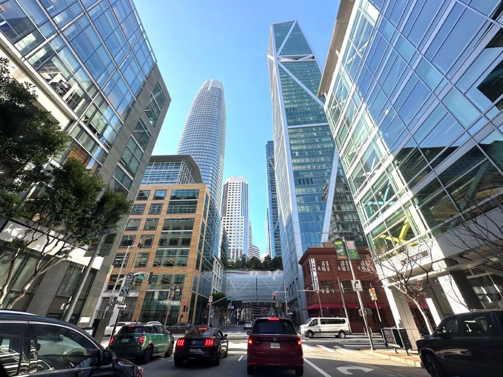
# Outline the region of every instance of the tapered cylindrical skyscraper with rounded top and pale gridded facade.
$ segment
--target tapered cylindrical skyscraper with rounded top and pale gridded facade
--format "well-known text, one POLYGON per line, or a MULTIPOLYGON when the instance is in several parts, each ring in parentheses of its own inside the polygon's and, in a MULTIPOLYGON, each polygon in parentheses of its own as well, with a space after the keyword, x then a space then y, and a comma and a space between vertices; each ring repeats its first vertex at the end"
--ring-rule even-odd
POLYGON ((216 208, 220 209, 225 152, 225 96, 222 83, 207 80, 197 92, 185 121, 177 154, 190 154, 199 165, 216 208))

